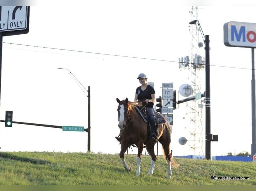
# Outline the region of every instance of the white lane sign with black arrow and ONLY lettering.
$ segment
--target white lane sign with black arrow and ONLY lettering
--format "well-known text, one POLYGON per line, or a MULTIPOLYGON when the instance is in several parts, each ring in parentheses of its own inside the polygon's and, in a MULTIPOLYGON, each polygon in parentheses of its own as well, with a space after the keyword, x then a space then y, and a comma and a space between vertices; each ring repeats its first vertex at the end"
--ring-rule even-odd
POLYGON ((25 30, 28 26, 28 6, 0 6, 0 32, 25 30))

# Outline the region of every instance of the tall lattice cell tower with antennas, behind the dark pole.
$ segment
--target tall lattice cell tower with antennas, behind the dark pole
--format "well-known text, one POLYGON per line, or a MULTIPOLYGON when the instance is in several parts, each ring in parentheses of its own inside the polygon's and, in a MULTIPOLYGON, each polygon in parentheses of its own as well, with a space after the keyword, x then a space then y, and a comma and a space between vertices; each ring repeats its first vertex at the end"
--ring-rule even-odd
MULTIPOLYGON (((197 6, 192 6, 189 13, 191 15, 191 21, 198 19, 197 6)), ((179 58, 179 68, 182 71, 184 70, 188 72, 187 77, 192 87, 192 96, 196 96, 196 94, 201 94, 204 92, 204 90, 201 89, 201 76, 203 75, 204 71, 205 58, 202 60, 202 56, 199 55, 200 48, 203 47, 204 44, 199 41, 199 35, 201 35, 201 33, 198 25, 189 25, 189 31, 191 34, 191 49, 189 51, 190 56, 179 58)), ((189 132, 189 141, 187 143, 190 147, 190 151, 192 151, 194 155, 204 154, 202 109, 202 99, 186 102, 187 112, 183 119, 187 119, 187 124, 185 127, 189 132)))

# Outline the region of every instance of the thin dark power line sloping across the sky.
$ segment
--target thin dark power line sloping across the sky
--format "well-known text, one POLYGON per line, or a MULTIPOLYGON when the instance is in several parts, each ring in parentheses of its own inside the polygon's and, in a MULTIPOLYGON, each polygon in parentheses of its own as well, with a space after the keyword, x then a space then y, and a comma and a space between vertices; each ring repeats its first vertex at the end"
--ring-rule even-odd
MULTIPOLYGON (((145 59, 145 60, 154 60, 154 61, 163 61, 163 62, 176 62, 179 61, 171 61, 171 60, 163 60, 163 59, 153 59, 153 58, 143 58, 143 57, 134 57, 134 56, 124 56, 124 55, 115 55, 115 54, 106 54, 106 53, 97 53, 97 52, 88 52, 88 51, 79 51, 79 50, 71 50, 71 49, 60 49, 60 48, 52 48, 52 47, 43 47, 43 46, 35 46, 35 45, 25 45, 25 44, 18 44, 18 43, 7 43, 5 44, 12 44, 12 45, 20 45, 20 46, 28 46, 28 47, 36 47, 36 48, 45 48, 45 49, 53 49, 53 50, 63 50, 63 51, 70 51, 70 52, 80 52, 80 53, 88 53, 88 54, 99 54, 99 55, 107 55, 107 56, 118 56, 118 57, 125 57, 125 58, 136 58, 136 59, 145 59)), ((187 63, 193 64, 193 63, 187 63)), ((205 64, 198 64, 198 65, 205 65, 205 64)), ((234 69, 245 69, 245 70, 252 70, 251 68, 242 68, 242 67, 233 67, 233 66, 221 66, 221 65, 213 65, 216 67, 223 67, 223 68, 234 68, 234 69)), ((256 69, 254 69, 256 70, 256 69)))

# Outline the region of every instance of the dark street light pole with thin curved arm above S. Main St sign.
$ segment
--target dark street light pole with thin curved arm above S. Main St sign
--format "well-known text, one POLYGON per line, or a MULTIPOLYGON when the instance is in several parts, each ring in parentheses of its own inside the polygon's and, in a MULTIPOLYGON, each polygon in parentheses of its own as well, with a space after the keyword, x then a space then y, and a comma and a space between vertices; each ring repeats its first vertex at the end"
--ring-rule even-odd
MULTIPOLYGON (((74 74, 72 74, 72 72, 67 69, 67 68, 58 68, 58 69, 64 69, 64 70, 68 70, 69 71, 69 74, 72 75, 76 80, 77 82, 84 88, 84 90, 86 90, 86 88, 79 82, 79 80, 74 76, 74 74)), ((85 129, 85 131, 88 133, 88 144, 87 144, 87 151, 88 152, 91 152, 91 90, 90 90, 90 86, 88 86, 88 90, 86 90, 88 92, 88 128, 85 129)))

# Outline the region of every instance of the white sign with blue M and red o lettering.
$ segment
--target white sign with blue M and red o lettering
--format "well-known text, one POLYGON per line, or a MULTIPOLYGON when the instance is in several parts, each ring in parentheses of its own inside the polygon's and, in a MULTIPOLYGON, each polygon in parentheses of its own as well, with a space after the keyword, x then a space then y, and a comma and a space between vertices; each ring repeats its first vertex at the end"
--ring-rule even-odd
POLYGON ((233 47, 256 47, 256 23, 225 23, 224 44, 233 47))

